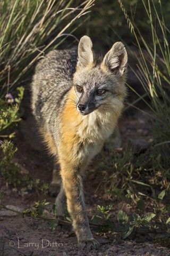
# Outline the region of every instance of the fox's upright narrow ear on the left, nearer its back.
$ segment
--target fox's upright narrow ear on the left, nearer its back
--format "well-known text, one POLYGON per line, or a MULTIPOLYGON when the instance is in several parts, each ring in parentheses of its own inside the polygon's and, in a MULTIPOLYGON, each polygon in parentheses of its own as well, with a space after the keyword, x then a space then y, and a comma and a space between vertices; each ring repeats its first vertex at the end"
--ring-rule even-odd
POLYGON ((92 42, 90 37, 83 36, 80 39, 78 46, 78 64, 79 67, 87 67, 94 61, 94 54, 92 52, 92 42))

